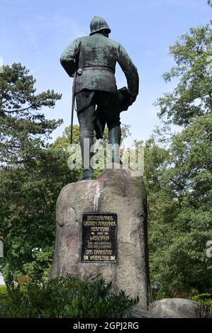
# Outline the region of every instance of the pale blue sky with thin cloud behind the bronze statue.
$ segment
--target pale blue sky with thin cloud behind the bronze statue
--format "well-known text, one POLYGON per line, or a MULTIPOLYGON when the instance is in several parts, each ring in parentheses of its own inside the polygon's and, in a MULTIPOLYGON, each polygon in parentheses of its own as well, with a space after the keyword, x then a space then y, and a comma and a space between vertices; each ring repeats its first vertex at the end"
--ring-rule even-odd
MULTIPOLYGON (((24 64, 37 80, 38 92, 54 89, 62 93, 55 109, 45 110, 47 118, 64 120, 52 133, 53 140, 70 123, 72 79, 60 65, 60 54, 74 38, 89 34, 91 18, 106 19, 110 38, 125 47, 140 75, 140 94, 121 115, 122 123, 131 125, 127 145, 135 139, 146 140, 159 124, 152 103, 174 87, 162 79, 173 64, 169 45, 189 28, 208 23, 212 13, 206 0, 0 0, 0 9, 4 64, 24 64)), ((126 84, 118 65, 116 81, 119 88, 126 84)))

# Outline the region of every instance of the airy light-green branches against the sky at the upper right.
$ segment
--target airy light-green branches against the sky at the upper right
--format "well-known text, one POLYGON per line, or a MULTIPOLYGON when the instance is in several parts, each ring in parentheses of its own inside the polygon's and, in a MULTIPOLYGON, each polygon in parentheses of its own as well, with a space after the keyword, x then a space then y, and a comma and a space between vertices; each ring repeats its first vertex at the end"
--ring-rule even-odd
POLYGON ((166 115, 169 123, 186 126, 191 118, 211 113, 212 77, 208 69, 211 44, 212 30, 208 24, 191 28, 170 47, 176 66, 164 73, 164 79, 168 82, 177 78, 179 84, 173 92, 158 99, 160 118, 166 115))

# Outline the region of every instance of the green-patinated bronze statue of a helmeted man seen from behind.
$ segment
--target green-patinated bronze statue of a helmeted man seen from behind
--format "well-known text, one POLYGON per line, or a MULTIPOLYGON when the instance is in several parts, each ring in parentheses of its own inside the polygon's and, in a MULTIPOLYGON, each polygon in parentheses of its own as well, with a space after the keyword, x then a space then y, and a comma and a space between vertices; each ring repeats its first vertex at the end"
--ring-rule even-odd
POLYGON ((80 145, 84 174, 81 180, 92 179, 94 154, 94 129, 100 138, 108 126, 108 141, 112 148, 112 162, 120 163, 121 140, 120 112, 126 110, 121 103, 132 105, 138 95, 138 71, 123 46, 108 38, 111 29, 99 16, 90 24, 89 36, 75 39, 62 53, 60 62, 67 74, 73 77, 77 100, 80 145), (120 64, 128 82, 128 89, 117 92, 115 67, 120 64), (121 102, 120 96, 123 96, 121 102), (85 143, 86 142, 86 143, 85 143))

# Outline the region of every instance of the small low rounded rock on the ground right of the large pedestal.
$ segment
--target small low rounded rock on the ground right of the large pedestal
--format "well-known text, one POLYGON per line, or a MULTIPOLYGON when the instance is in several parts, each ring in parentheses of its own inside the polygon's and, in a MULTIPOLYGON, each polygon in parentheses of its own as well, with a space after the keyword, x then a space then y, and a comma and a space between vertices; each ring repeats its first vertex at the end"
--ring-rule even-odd
POLYGON ((150 305, 150 312, 157 318, 200 318, 203 317, 201 303, 184 298, 164 298, 150 305))

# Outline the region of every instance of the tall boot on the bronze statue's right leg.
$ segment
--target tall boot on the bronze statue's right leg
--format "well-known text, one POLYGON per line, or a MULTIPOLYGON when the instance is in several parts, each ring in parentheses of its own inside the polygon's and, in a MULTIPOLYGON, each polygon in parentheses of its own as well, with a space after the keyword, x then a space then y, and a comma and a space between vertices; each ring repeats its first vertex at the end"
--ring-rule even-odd
POLYGON ((121 127, 120 125, 111 128, 108 132, 109 144, 111 144, 112 163, 122 164, 120 159, 121 127))

